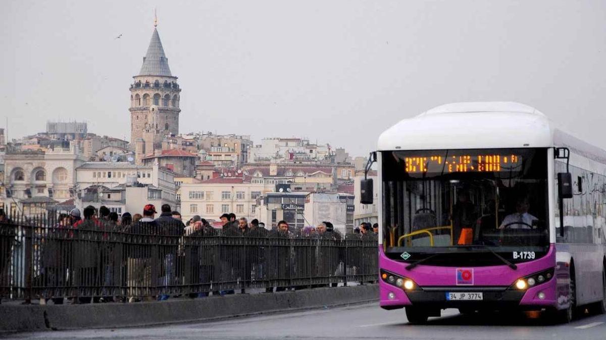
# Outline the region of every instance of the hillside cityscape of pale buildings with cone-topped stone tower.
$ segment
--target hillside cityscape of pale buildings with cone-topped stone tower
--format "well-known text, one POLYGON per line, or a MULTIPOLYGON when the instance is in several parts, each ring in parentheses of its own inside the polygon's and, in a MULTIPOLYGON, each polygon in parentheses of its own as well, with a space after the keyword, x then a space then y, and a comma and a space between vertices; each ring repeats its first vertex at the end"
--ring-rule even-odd
POLYGON ((233 212, 268 227, 331 221, 341 232, 378 221, 375 204, 358 203, 367 158, 331 140, 179 133, 180 96, 155 24, 130 84, 130 140, 78 121, 49 120, 45 131, 11 140, 0 129, 0 208, 34 217, 105 206, 121 215, 169 204, 185 221, 199 215, 216 227, 233 212))

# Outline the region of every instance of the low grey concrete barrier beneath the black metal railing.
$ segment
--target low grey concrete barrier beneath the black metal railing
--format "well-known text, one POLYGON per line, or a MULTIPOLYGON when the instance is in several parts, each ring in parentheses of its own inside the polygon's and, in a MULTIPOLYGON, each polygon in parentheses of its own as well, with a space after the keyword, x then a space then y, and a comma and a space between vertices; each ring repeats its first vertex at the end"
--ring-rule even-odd
POLYGON ((0 330, 19 332, 133 327, 208 321, 261 313, 343 306, 376 301, 376 285, 294 292, 209 296, 198 299, 76 305, 0 305, 0 330))

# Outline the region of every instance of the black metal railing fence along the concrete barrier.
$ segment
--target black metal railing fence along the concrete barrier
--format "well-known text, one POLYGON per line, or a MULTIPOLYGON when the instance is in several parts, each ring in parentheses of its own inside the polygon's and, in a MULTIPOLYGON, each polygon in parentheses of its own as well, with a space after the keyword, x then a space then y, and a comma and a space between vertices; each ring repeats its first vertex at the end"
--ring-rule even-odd
POLYGON ((372 235, 0 221, 0 299, 144 298, 377 280, 372 235))

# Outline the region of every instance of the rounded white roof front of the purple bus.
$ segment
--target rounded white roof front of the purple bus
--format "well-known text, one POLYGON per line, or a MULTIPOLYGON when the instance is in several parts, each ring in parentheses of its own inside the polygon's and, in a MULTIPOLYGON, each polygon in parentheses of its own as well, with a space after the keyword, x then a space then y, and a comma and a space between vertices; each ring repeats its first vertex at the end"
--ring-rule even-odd
POLYGON ((553 146, 544 114, 520 103, 441 105, 404 119, 379 136, 378 150, 524 148, 553 146))

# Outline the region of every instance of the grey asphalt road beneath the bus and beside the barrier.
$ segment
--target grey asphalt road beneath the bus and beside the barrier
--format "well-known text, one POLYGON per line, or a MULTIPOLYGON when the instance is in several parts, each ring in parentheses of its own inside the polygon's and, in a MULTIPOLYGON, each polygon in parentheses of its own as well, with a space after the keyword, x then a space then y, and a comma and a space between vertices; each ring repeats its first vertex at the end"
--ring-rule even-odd
POLYGON ((225 321, 132 329, 19 333, 12 339, 606 339, 606 315, 585 315, 565 325, 547 325, 532 315, 460 315, 442 311, 427 325, 410 325, 404 310, 378 304, 259 315, 225 321))

